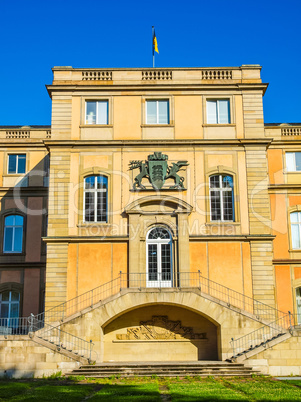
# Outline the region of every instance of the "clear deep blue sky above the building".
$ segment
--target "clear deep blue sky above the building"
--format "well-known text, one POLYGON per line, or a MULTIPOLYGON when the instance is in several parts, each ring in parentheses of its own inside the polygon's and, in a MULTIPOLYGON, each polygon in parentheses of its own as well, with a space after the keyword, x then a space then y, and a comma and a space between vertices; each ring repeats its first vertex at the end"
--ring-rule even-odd
POLYGON ((0 0, 0 125, 50 124, 53 66, 260 64, 265 122, 301 122, 300 0, 0 0))

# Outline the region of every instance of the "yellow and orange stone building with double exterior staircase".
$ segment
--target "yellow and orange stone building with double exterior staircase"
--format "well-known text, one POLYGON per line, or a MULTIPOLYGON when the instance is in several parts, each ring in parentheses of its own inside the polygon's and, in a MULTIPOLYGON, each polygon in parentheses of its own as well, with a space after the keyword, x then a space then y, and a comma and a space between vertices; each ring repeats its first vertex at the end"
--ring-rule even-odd
POLYGON ((301 125, 264 124, 260 70, 54 67, 51 128, 0 128, 3 370, 36 342, 46 357, 24 352, 23 371, 232 358, 301 374, 301 125))

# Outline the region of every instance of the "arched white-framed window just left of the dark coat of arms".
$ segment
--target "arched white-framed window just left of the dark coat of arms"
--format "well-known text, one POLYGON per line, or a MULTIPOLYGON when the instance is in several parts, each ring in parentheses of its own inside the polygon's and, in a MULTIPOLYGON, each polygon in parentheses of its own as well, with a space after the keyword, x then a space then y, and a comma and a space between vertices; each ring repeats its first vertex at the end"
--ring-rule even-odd
POLYGON ((107 222, 108 179, 105 176, 88 176, 84 184, 85 222, 107 222))

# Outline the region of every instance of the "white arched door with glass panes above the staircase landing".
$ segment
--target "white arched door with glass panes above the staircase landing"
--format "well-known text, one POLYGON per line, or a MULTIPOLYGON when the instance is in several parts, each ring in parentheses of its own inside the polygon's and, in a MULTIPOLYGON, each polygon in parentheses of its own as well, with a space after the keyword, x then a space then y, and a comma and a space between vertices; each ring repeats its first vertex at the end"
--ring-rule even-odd
POLYGON ((153 228, 146 241, 146 286, 172 286, 172 238, 162 226, 153 228))

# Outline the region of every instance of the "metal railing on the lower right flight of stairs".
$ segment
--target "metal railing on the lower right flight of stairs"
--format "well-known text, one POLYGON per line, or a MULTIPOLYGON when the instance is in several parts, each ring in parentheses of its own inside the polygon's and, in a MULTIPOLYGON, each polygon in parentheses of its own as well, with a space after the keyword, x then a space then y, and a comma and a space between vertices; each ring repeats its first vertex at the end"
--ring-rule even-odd
POLYGON ((289 312, 285 316, 278 318, 274 322, 264 325, 247 335, 241 336, 237 339, 231 338, 230 344, 233 350, 232 358, 242 356, 260 346, 266 347, 268 342, 271 342, 279 336, 287 333, 287 331, 292 328, 292 324, 292 314, 289 312))

